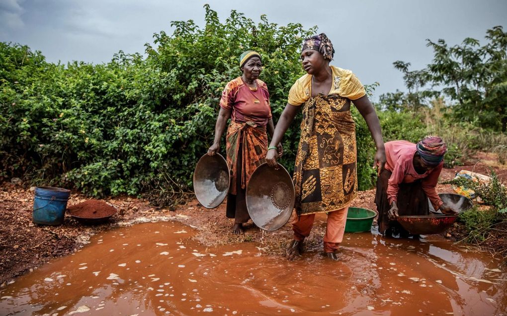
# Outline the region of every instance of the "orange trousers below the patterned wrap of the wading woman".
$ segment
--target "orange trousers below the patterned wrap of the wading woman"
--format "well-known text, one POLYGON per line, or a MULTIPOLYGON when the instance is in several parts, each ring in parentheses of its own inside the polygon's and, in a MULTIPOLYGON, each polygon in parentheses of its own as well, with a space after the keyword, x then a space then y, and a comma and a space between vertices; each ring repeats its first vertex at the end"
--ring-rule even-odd
MULTIPOLYGON (((334 252, 343 240, 345 222, 347 221, 348 206, 328 213, 328 221, 324 235, 324 252, 334 252)), ((315 214, 296 216, 292 221, 294 239, 303 241, 310 235, 315 214)))

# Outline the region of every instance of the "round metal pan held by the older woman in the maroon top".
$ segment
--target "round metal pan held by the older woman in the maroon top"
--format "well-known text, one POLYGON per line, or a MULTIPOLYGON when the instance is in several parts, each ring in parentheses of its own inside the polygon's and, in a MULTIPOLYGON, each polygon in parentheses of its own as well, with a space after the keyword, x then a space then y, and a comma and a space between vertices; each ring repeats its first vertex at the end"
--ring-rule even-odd
POLYGON ((194 170, 194 191, 197 201, 205 208, 218 207, 229 191, 231 175, 221 154, 199 159, 194 170))

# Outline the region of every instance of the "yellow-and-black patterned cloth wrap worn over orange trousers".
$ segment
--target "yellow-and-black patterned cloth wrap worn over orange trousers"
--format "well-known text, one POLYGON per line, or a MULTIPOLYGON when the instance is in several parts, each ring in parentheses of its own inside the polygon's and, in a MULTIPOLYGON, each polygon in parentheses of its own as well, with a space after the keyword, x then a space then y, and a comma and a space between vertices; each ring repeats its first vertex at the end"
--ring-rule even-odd
POLYGON ((305 102, 294 185, 298 215, 344 208, 356 197, 355 123, 347 99, 318 95, 305 102))

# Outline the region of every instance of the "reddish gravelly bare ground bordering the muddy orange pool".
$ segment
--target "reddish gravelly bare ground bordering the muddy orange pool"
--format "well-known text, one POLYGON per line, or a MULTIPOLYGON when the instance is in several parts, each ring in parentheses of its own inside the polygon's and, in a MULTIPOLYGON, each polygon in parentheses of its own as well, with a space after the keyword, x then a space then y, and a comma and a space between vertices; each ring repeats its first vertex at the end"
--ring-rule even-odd
MULTIPOLYGON (((451 179, 455 172, 466 169, 489 174, 489 167, 496 170, 507 180, 507 168, 504 165, 494 164, 488 160, 490 156, 483 155, 476 164, 468 163, 453 169, 444 169, 441 180, 451 179), (486 159, 488 158, 488 159, 486 159)), ((438 192, 452 192, 450 185, 439 185, 438 192)), ((361 191, 352 206, 374 209, 373 203, 375 191, 361 191)), ((87 200, 88 198, 73 192, 68 206, 87 200)), ((117 197, 105 199, 107 203, 116 206, 119 212, 106 224, 87 226, 78 223, 68 214, 62 225, 44 226, 33 224, 31 221, 31 209, 33 205, 33 192, 10 183, 0 184, 0 284, 5 284, 22 274, 35 269, 51 258, 63 256, 80 249, 85 245, 90 236, 111 230, 123 225, 142 221, 178 220, 200 230, 195 237, 206 246, 236 242, 259 242, 265 251, 278 254, 292 238, 290 225, 282 229, 267 233, 256 228, 251 222, 247 225, 244 235, 236 236, 230 233, 232 221, 225 217, 225 203, 218 209, 208 210, 203 208, 194 199, 187 204, 178 207, 175 211, 156 209, 142 199, 130 197, 117 197)), ((317 217, 318 221, 325 221, 325 216, 317 217)), ((459 235, 460 230, 454 229, 454 234, 459 235)), ((323 228, 316 225, 315 229, 307 238, 307 247, 317 249, 320 247, 323 236, 323 228)), ((459 236, 458 236, 459 237, 459 236)), ((505 248, 507 240, 499 239, 496 244, 499 248, 505 248)), ((495 245, 488 245, 494 247, 495 245)))

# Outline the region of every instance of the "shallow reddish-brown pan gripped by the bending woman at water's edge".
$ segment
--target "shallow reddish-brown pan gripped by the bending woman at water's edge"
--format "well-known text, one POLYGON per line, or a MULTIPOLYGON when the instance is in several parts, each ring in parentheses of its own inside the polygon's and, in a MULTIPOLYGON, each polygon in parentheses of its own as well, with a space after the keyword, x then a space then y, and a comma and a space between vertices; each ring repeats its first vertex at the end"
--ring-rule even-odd
POLYGON ((404 215, 396 220, 413 235, 432 235, 445 232, 458 215, 404 215))

